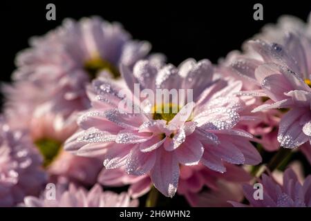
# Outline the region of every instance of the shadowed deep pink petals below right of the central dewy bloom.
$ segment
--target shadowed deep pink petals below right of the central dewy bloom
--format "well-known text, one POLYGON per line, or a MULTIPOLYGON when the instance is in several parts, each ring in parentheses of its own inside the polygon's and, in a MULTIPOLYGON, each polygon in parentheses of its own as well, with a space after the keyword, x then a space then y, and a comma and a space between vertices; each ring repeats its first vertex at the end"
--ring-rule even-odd
POLYGON ((202 164, 181 166, 178 194, 185 195, 191 206, 230 206, 228 200, 242 200, 241 183, 252 177, 242 167, 225 166, 226 173, 217 173, 202 164))

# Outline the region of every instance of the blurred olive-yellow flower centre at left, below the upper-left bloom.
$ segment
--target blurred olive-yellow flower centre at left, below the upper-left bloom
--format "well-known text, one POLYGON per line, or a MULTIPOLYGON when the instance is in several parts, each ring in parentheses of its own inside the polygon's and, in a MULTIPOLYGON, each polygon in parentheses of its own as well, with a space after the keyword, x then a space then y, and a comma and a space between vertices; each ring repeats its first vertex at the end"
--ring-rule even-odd
POLYGON ((42 138, 35 142, 41 155, 44 157, 44 167, 50 165, 61 152, 62 143, 50 138, 42 138))

